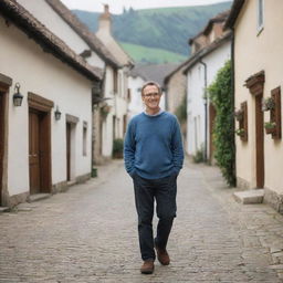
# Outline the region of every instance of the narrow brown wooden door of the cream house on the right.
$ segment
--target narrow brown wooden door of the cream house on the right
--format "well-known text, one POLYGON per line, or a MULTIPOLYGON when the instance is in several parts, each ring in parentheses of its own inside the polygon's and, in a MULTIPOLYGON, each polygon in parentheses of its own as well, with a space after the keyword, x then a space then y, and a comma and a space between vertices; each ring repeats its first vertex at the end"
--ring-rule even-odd
POLYGON ((255 96, 255 150, 256 150, 256 187, 264 188, 264 127, 261 109, 262 95, 255 96))

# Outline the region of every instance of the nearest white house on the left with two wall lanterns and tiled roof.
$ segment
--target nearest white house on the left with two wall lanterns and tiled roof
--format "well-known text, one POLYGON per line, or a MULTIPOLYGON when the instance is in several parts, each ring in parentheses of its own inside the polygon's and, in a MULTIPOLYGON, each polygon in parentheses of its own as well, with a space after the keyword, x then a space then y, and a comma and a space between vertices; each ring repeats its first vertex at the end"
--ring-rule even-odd
POLYGON ((15 1, 0 1, 0 206, 13 207, 90 178, 103 72, 15 1))

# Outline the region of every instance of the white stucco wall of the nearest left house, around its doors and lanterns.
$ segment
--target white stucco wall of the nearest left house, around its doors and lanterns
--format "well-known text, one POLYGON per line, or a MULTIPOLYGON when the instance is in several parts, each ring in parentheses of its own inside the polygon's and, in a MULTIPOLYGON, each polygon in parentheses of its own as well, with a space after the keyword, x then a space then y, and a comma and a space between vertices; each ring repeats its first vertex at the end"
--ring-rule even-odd
POLYGON ((60 120, 51 115, 52 184, 66 180, 65 114, 80 118, 75 130, 75 172, 91 171, 91 86, 92 83, 35 42, 0 21, 0 72, 13 80, 9 95, 8 189, 10 196, 29 191, 29 107, 28 92, 51 99, 62 112, 60 120), (21 107, 12 104, 15 82, 23 94, 21 107), (83 122, 87 122, 87 155, 82 154, 83 122))

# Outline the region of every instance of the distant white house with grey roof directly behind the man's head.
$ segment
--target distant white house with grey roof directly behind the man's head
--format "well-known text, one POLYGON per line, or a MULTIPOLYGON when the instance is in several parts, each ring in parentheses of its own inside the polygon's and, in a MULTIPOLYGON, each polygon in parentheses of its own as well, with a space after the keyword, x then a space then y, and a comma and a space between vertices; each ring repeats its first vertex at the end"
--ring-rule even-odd
POLYGON ((140 88, 147 81, 157 82, 163 88, 160 107, 166 109, 166 93, 164 88, 164 78, 168 75, 177 64, 137 64, 129 72, 129 92, 130 103, 128 105, 128 116, 133 117, 144 111, 144 104, 140 96, 140 88))

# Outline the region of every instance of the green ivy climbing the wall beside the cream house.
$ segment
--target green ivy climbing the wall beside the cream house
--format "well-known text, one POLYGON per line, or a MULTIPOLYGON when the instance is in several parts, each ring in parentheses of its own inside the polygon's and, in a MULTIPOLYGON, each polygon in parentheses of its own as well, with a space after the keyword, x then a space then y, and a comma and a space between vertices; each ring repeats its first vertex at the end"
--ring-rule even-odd
POLYGON ((216 81, 208 87, 216 107, 213 127, 214 158, 229 186, 235 186, 235 147, 233 94, 231 88, 231 61, 219 70, 216 81))

